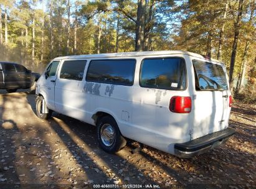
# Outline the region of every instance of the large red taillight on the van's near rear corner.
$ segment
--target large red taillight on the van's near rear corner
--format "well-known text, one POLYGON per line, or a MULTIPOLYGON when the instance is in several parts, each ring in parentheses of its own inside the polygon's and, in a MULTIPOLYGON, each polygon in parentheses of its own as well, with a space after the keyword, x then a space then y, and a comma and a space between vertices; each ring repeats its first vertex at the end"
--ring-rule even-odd
POLYGON ((169 110, 173 113, 190 113, 191 112, 190 96, 173 96, 170 99, 169 110))

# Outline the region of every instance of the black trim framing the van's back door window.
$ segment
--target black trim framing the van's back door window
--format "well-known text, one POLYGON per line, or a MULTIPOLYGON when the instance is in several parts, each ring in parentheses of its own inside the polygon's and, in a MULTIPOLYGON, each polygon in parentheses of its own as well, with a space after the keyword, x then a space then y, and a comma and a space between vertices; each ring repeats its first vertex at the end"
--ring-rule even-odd
POLYGON ((223 70, 223 72, 224 72, 224 75, 225 75, 225 78, 226 78, 226 80, 227 80, 227 89, 225 89, 225 90, 201 90, 201 88, 199 87, 199 78, 198 78, 198 74, 197 74, 197 70, 196 70, 196 67, 195 67, 195 65, 194 65, 194 60, 197 60, 197 59, 192 59, 192 66, 193 66, 193 69, 194 69, 194 80, 195 80, 195 89, 196 89, 196 91, 226 91, 226 90, 229 90, 229 81, 227 80, 227 76, 225 75, 225 70, 224 70, 224 68, 222 67, 222 65, 221 64, 218 64, 218 63, 212 63, 212 62, 207 62, 207 61, 204 61, 204 60, 197 60, 197 61, 200 61, 200 62, 203 62, 203 63, 211 63, 211 64, 214 64, 214 65, 219 65, 221 68, 222 68, 222 70, 223 70))

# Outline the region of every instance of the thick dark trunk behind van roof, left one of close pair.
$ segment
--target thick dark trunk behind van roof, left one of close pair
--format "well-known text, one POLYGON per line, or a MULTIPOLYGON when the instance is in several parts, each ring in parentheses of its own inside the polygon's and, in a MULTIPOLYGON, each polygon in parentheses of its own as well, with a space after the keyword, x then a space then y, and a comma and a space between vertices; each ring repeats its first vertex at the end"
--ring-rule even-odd
POLYGON ((138 0, 135 51, 143 51, 144 48, 145 11, 146 0, 138 0))

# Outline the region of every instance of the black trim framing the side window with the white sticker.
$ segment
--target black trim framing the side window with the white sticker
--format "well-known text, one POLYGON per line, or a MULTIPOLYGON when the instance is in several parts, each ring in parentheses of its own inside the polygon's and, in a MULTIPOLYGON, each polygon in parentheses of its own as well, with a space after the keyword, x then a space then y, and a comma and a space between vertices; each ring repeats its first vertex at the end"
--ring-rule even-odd
POLYGON ((168 90, 168 91, 186 91, 187 90, 187 64, 186 64, 186 60, 185 60, 185 58, 184 57, 148 57, 148 58, 143 58, 142 60, 141 60, 141 64, 140 64, 140 75, 139 75, 139 85, 140 85, 140 87, 141 88, 153 88, 153 89, 156 89, 156 90, 168 90), (183 62, 184 62, 184 69, 185 69, 185 88, 184 89, 175 89, 175 88, 173 88, 173 89, 169 89, 169 88, 161 88, 161 87, 158 87, 158 88, 156 88, 156 87, 147 87, 147 86, 142 86, 141 85, 141 68, 142 68, 142 65, 143 65, 143 62, 144 62, 144 60, 154 60, 154 59, 163 59, 163 58, 180 58, 183 62))

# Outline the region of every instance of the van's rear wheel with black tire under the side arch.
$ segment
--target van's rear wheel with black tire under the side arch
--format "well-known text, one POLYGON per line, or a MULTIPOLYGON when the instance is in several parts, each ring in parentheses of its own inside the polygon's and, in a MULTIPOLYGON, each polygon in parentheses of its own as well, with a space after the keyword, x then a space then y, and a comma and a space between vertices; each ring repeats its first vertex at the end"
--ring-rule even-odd
POLYGON ((126 145, 125 138, 121 135, 115 119, 113 119, 111 116, 105 116, 97 121, 97 139, 100 147, 102 147, 105 152, 110 154, 118 152, 126 145), (112 129, 113 134, 109 134, 108 129, 110 129, 110 131, 112 129), (107 142, 104 140, 106 134, 104 135, 103 131, 107 131, 109 134, 108 136, 113 137, 113 139, 109 140, 109 144, 106 144, 107 142))

